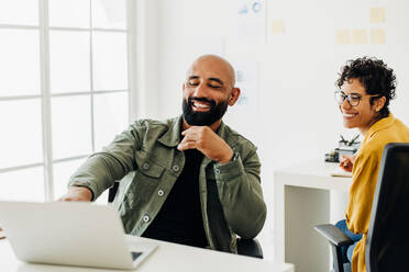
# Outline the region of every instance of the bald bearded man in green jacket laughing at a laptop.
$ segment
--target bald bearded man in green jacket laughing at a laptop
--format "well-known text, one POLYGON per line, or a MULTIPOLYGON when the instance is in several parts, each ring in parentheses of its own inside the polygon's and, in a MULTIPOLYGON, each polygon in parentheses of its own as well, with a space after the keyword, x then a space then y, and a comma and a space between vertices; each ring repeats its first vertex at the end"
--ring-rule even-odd
POLYGON ((222 122, 239 99, 223 58, 194 61, 183 84, 183 115, 141 120, 92 155, 60 201, 93 201, 115 180, 126 234, 236 252, 254 238, 266 205, 256 147, 222 122))

